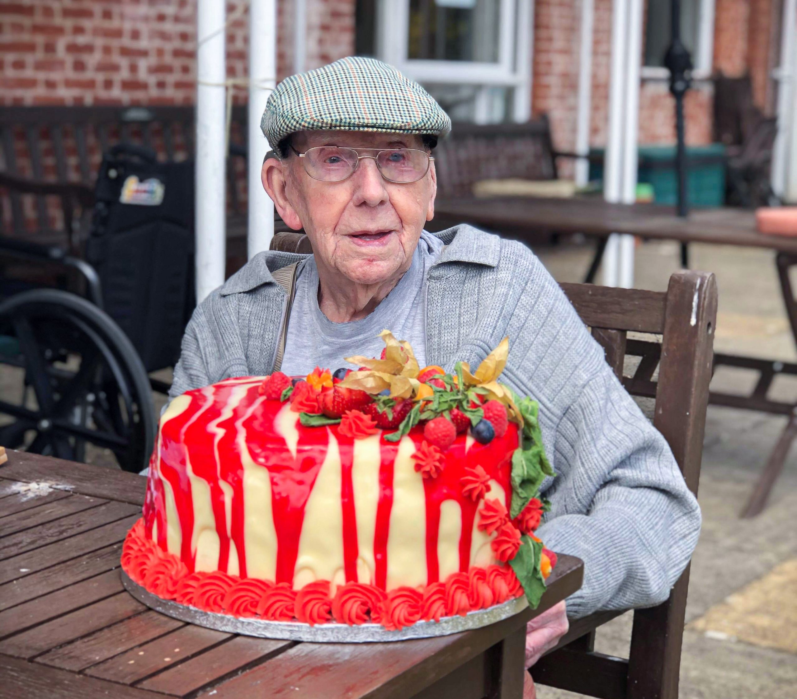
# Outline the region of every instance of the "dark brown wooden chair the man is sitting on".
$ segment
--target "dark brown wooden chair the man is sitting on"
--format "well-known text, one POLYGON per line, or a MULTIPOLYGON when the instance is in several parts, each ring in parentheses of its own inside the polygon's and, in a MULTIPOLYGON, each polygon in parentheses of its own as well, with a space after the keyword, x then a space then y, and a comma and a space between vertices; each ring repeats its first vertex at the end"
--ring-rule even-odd
MULTIPOLYGON (((562 287, 626 389, 655 399, 654 426, 673 450, 689 490, 697 494, 717 323, 714 275, 677 272, 666 293, 591 284, 562 287), (662 339, 628 338, 630 332, 662 339), (638 357, 633 371, 624 371, 626 357, 638 357)), ((595 629, 622 614, 598 612, 571 623, 559 646, 532 667, 533 678, 603 699, 677 699, 688 586, 686 568, 669 599, 634 611, 627 659, 595 652, 595 629)))

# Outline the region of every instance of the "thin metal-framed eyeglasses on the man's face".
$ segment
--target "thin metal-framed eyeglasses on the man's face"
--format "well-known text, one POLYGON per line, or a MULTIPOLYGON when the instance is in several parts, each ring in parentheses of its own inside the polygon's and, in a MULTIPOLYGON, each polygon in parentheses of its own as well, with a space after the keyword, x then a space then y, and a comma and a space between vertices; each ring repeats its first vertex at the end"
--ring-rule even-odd
POLYGON ((429 163, 434 160, 426 150, 415 148, 360 149, 376 150, 373 155, 360 155, 354 148, 340 146, 317 146, 308 148, 304 153, 293 146, 291 150, 303 159, 304 171, 313 179, 323 182, 343 182, 355 173, 360 160, 372 158, 383 179, 406 185, 418 182, 429 171, 429 163))

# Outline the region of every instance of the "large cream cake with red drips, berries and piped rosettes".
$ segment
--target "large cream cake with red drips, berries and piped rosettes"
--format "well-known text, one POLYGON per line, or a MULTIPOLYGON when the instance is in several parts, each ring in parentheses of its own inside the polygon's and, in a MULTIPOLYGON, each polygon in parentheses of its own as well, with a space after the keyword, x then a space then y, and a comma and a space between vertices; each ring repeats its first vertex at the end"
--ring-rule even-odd
POLYGON ((537 404, 478 369, 421 369, 387 330, 359 371, 240 377, 163 413, 122 567, 161 599, 234 617, 388 630, 539 603, 553 471, 537 404))

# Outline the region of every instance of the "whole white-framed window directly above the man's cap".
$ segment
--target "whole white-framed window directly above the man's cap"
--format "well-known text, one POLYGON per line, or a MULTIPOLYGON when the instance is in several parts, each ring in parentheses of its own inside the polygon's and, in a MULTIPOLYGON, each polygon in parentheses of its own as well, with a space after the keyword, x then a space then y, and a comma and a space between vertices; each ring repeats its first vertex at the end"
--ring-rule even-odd
POLYGON ((532 0, 381 0, 376 53, 452 119, 525 121, 531 30, 532 0))

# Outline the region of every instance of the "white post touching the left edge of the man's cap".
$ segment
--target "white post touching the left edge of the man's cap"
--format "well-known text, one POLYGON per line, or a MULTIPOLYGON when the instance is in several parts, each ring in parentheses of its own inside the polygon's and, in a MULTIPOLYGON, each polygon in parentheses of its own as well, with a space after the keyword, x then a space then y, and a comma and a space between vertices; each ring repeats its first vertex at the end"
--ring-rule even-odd
POLYGON ((274 205, 265 193, 260 173, 269 143, 260 130, 260 119, 277 75, 277 7, 274 0, 249 4, 249 153, 246 248, 249 260, 269 249, 274 235, 274 205))

